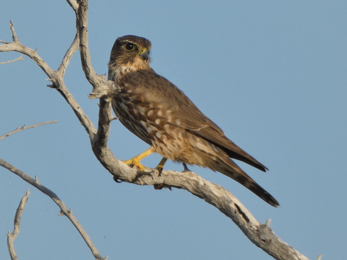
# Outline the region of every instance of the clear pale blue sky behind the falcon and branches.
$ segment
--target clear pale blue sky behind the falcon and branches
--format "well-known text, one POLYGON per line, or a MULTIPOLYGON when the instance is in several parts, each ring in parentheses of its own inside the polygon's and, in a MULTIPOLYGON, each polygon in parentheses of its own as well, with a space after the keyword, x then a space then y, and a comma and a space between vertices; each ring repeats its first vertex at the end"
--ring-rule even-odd
MULTIPOLYGON (((281 204, 273 208, 228 177, 192 167, 231 191, 262 223, 310 259, 346 257, 346 1, 91 1, 92 65, 107 72, 119 36, 152 42, 152 67, 182 89, 237 145, 266 165, 239 163, 281 204)), ((61 1, 2 0, 0 39, 38 49, 52 69, 75 35, 61 1)), ((0 53, 0 61, 18 57, 0 53)), ((17 125, 58 120, 0 141, 0 158, 64 201, 109 259, 272 259, 217 209, 192 194, 115 183, 95 159, 88 136, 46 75, 31 60, 0 65, 0 135, 17 125)), ((97 123, 97 100, 78 54, 65 83, 97 123)), ((109 145, 129 159, 148 146, 119 122, 109 145)), ((154 167, 158 155, 143 163, 154 167)), ((182 170, 167 163, 166 169, 182 170)), ((15 241, 19 259, 93 259, 58 207, 0 168, 0 259, 20 198, 31 195, 15 241)))

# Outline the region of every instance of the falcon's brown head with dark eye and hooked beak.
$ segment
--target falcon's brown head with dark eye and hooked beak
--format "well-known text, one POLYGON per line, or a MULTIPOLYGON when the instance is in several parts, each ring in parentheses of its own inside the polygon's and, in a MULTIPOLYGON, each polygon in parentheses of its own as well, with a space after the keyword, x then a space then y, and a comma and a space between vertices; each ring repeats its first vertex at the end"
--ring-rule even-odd
POLYGON ((135 35, 119 37, 113 44, 108 66, 121 74, 150 69, 150 49, 151 42, 146 38, 135 35))

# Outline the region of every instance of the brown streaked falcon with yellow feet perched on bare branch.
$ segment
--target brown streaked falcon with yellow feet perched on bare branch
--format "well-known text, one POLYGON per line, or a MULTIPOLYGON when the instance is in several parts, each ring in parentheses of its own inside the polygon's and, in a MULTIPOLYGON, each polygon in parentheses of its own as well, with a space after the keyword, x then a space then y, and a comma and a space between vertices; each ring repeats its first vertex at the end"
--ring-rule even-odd
POLYGON ((119 121, 150 148, 125 161, 144 170, 141 159, 156 152, 163 156, 156 169, 161 172, 167 159, 184 165, 198 165, 221 172, 254 192, 270 205, 278 201, 249 177, 230 158, 266 171, 263 164, 228 139, 174 84, 150 66, 151 42, 125 35, 113 44, 108 79, 120 92, 112 99, 119 121))

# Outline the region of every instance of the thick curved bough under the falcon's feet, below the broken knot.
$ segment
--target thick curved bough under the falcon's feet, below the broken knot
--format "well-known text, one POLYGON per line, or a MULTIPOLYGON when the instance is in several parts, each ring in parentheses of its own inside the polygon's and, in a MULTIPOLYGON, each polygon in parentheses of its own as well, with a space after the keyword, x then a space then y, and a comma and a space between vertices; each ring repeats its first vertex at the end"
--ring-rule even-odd
POLYGON ((109 124, 111 122, 110 100, 100 99, 98 131, 92 141, 92 150, 100 163, 111 173, 115 180, 138 185, 162 184, 165 187, 185 189, 204 199, 229 217, 256 246, 275 259, 307 258, 283 242, 270 228, 270 220, 265 224, 255 217, 229 191, 219 185, 204 180, 194 172, 162 171, 145 168, 144 172, 136 167, 130 168, 118 161, 107 146, 109 124))

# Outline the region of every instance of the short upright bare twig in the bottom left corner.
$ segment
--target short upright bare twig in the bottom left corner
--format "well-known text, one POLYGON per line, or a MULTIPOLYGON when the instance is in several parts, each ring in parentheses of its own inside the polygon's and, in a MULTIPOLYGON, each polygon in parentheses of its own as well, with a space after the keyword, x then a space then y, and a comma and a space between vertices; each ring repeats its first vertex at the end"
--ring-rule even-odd
POLYGON ((25 203, 28 200, 29 194, 30 194, 29 189, 27 189, 25 194, 24 194, 24 196, 20 200, 18 208, 16 210, 16 215, 15 215, 15 219, 14 219, 14 229, 13 229, 13 232, 12 233, 10 233, 10 232, 7 233, 7 249, 8 249, 8 252, 10 254, 11 260, 18 260, 15 248, 13 246, 13 241, 16 239, 17 235, 19 234, 20 217, 22 217, 22 213, 23 213, 23 210, 24 210, 24 207, 25 207, 25 203))

